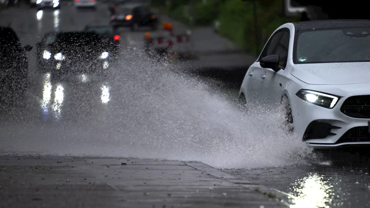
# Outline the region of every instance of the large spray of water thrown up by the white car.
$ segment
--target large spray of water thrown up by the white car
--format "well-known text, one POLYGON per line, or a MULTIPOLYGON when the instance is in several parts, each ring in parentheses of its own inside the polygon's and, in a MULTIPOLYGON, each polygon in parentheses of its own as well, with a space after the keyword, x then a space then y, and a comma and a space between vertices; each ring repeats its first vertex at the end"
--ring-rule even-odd
MULTIPOLYGON (((297 164, 312 154, 277 125, 283 117, 278 109, 252 107, 243 113, 172 64, 154 64, 130 51, 101 87, 100 107, 75 100, 94 111, 89 116, 41 122, 34 113, 40 101, 29 101, 23 117, 31 120, 1 126, 1 152, 202 161, 217 168, 297 164)), ((55 104, 62 98, 67 99, 59 96, 53 106, 63 118, 76 104, 55 104)))

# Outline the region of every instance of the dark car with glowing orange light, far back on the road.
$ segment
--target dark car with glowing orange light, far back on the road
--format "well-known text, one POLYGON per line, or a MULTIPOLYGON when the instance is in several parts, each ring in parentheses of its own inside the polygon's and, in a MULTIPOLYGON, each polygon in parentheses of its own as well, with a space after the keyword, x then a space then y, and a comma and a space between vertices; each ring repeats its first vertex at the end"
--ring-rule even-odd
POLYGON ((110 24, 114 28, 130 27, 132 31, 139 27, 150 27, 156 30, 159 20, 144 4, 122 4, 112 12, 110 24))

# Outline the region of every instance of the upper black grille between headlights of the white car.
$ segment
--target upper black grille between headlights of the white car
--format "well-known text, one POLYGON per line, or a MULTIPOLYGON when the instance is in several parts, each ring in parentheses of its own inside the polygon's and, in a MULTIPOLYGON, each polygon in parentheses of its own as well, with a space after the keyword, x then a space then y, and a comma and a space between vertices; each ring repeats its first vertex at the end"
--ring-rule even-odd
POLYGON ((358 95, 347 98, 340 111, 352 118, 370 118, 370 95, 358 95))

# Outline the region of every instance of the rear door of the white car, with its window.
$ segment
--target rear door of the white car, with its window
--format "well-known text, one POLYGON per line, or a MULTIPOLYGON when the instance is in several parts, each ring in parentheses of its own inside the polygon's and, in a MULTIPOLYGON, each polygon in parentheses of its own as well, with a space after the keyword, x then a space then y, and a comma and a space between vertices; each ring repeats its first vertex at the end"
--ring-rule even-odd
POLYGON ((246 93, 249 101, 256 100, 259 103, 266 103, 267 93, 264 88, 264 84, 267 77, 266 70, 259 64, 261 58, 269 55, 273 55, 276 51, 277 44, 279 43, 284 31, 275 32, 269 39, 265 48, 258 60, 249 68, 246 76, 249 77, 246 93))

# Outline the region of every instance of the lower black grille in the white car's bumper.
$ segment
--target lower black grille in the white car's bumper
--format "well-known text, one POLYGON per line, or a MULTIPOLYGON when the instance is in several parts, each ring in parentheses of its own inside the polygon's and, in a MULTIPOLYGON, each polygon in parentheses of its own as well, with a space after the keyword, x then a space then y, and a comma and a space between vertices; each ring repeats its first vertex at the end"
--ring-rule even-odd
POLYGON ((339 138, 335 144, 340 144, 343 142, 369 142, 370 141, 370 133, 369 127, 361 126, 361 127, 354 127, 348 130, 346 133, 339 138))

